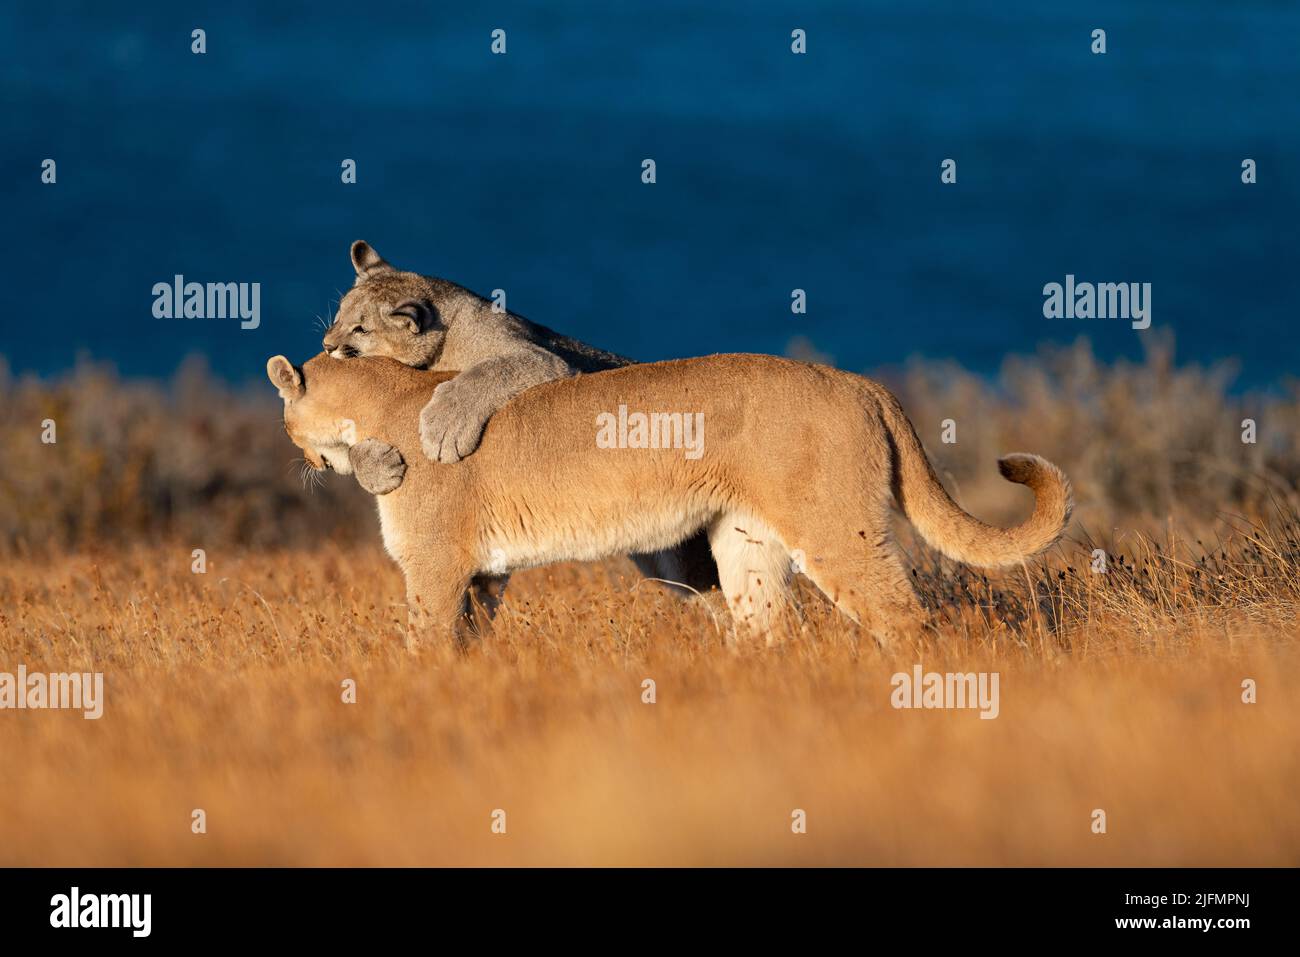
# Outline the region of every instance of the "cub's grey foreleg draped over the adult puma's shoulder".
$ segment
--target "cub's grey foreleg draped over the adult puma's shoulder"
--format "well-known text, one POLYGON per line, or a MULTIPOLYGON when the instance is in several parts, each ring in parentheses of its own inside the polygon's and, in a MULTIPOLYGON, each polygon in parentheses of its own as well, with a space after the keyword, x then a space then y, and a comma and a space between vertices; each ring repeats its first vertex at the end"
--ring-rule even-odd
POLYGON ((478 447, 493 413, 525 389, 572 376, 573 369, 541 348, 486 359, 433 390, 420 412, 420 443, 434 462, 450 465, 478 447))

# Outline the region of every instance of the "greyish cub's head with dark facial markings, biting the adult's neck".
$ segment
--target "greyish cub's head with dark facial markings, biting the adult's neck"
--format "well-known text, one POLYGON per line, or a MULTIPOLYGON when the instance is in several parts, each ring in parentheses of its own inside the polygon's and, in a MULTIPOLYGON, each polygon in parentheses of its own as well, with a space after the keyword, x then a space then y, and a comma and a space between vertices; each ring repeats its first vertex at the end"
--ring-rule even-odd
POLYGON ((477 299, 455 283, 394 269, 360 239, 352 243, 352 268, 356 282, 321 343, 335 359, 385 355, 428 368, 442 352, 447 322, 477 299))

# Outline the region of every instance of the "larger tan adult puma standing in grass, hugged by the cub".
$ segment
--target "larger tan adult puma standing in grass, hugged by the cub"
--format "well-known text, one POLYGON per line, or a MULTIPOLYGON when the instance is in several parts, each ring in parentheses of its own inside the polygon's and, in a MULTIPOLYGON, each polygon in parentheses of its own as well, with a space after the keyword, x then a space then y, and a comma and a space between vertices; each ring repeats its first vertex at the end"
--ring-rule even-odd
MULTIPOLYGON (((325 355, 302 369, 276 356, 268 374, 308 460, 344 472, 356 441, 416 449, 416 412, 446 377, 387 359, 325 355)), ((463 462, 406 458, 400 488, 378 501, 416 629, 454 627, 472 579, 499 572, 502 560, 516 570, 655 551, 705 529, 738 622, 763 629, 788 603, 797 554, 812 583, 884 642, 923 622, 890 541, 890 499, 942 553, 985 567, 1052 545, 1071 508, 1056 465, 1009 455, 1002 475, 1034 489, 1034 512, 1010 529, 978 521, 944 492, 888 390, 837 369, 757 355, 549 382, 502 408, 463 462), (620 404, 702 412, 703 454, 597 447, 597 416, 620 404)))

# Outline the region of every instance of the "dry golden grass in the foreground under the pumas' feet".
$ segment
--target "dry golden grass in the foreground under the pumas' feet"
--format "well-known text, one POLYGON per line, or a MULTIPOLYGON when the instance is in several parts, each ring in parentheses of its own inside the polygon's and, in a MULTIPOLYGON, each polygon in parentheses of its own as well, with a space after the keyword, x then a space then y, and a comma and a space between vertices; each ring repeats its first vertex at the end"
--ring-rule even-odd
POLYGON ((0 865, 1300 863, 1296 525, 1128 554, 922 562, 939 624, 890 653, 811 597, 737 645, 624 563, 538 570, 415 657, 376 547, 16 557, 0 670, 104 671, 107 705, 0 713, 0 865), (894 710, 916 663, 1000 672, 1000 716, 894 710))

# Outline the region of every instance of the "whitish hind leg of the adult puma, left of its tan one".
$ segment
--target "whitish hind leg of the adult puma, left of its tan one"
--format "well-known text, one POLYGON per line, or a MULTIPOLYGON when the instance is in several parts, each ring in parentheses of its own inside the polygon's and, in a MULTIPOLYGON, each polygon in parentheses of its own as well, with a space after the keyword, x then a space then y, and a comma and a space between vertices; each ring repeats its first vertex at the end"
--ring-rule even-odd
POLYGON ((742 631, 767 632, 790 603, 790 553, 767 523, 725 512, 708 527, 708 545, 732 618, 742 631))

